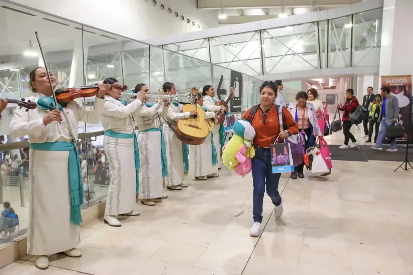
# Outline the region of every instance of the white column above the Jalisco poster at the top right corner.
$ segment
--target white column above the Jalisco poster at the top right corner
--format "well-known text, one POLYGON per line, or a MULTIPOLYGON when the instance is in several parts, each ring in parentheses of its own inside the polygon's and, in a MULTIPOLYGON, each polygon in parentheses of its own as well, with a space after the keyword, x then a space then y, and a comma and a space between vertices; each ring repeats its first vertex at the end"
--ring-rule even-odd
POLYGON ((379 75, 412 75, 413 1, 384 0, 379 75))

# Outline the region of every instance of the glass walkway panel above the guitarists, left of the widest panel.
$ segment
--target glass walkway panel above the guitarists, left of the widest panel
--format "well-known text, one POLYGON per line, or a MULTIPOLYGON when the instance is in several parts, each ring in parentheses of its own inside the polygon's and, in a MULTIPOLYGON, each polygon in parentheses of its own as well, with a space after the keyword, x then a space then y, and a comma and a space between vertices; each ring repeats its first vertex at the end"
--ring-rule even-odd
POLYGON ((249 75, 262 73, 259 31, 211 37, 209 43, 212 63, 249 75))

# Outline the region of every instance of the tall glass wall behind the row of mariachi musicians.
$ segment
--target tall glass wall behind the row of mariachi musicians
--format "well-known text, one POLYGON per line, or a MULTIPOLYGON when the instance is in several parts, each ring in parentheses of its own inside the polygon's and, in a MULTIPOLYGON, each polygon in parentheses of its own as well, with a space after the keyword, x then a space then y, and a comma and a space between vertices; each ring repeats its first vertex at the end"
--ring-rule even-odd
MULTIPOLYGON (((19 99, 33 94, 28 89, 30 71, 43 65, 35 36, 35 30, 38 30, 48 67, 54 72, 58 87, 80 87, 114 77, 129 88, 145 83, 157 93, 159 86, 170 81, 175 83, 178 93, 211 84, 216 88, 217 96, 223 99, 238 81, 240 92, 231 103, 231 112, 240 113, 258 102, 262 80, 202 59, 205 54, 202 44, 194 50, 198 53, 174 51, 176 48, 172 46, 152 46, 0 2, 0 29, 3 33, 19 33, 9 35, 0 46, 0 98, 19 99), (25 21, 30 27, 21 31, 13 23, 15 20, 25 21)), ((87 108, 94 103, 94 97, 77 100, 87 108)), ((0 244, 11 240, 13 235, 24 234, 29 219, 29 143, 27 136, 10 136, 10 121, 15 108, 10 104, 2 113, 0 205, 9 202, 19 216, 19 224, 14 228, 0 227, 0 244)), ((80 122, 79 133, 77 148, 82 168, 83 207, 88 207, 106 197, 111 175, 103 148, 102 125, 80 122)), ((4 220, 4 224, 13 224, 6 218, 4 220)))

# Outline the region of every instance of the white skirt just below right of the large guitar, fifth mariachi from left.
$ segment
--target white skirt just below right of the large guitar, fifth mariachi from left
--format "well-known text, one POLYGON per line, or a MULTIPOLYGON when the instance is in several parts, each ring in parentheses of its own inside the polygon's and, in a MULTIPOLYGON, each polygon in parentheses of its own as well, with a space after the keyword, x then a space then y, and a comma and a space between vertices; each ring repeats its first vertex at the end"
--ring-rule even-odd
MULTIPOLYGON (((215 138, 214 138, 215 143, 215 138)), ((219 158, 219 150, 217 150, 219 158)), ((218 162, 219 163, 219 162, 218 162)), ((211 133, 200 145, 189 145, 189 176, 207 176, 218 172, 218 164, 212 165, 211 133)))

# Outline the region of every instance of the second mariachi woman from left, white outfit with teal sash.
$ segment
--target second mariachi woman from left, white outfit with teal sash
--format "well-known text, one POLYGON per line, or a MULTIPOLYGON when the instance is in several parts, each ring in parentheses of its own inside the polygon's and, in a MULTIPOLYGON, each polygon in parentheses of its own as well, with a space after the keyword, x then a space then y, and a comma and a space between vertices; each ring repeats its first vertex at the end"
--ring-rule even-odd
POLYGON ((105 129, 103 146, 109 160, 111 182, 104 221, 111 226, 121 226, 116 215, 139 215, 134 210, 136 195, 139 192, 139 148, 135 134, 133 112, 143 103, 144 94, 139 92, 137 98, 128 104, 121 99, 122 89, 115 78, 109 77, 104 84, 113 84, 109 94, 105 95, 105 108, 102 115, 102 126, 105 129))

